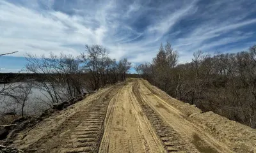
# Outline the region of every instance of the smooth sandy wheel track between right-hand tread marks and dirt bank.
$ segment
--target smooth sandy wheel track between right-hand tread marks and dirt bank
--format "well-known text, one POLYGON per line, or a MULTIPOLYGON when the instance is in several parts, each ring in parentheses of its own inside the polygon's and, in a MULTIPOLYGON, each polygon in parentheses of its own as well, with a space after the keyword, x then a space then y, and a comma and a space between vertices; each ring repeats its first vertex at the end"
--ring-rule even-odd
POLYGON ((148 107, 154 110, 164 122, 179 134, 180 140, 186 143, 188 151, 196 149, 198 152, 232 152, 226 145, 218 142, 207 133, 186 120, 186 115, 169 105, 166 101, 152 93, 141 80, 138 80, 141 98, 148 107), (188 147, 189 146, 189 147, 188 147))

